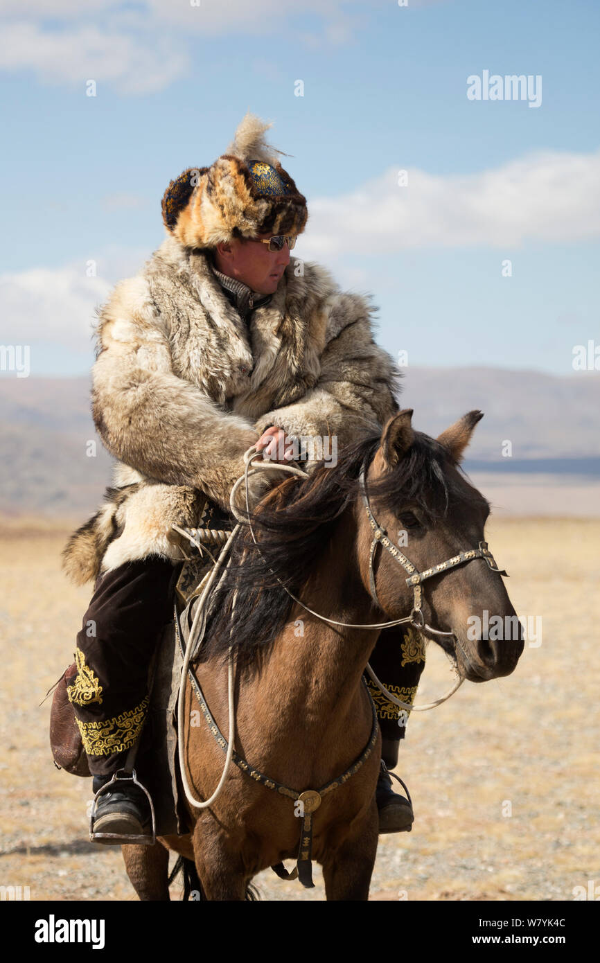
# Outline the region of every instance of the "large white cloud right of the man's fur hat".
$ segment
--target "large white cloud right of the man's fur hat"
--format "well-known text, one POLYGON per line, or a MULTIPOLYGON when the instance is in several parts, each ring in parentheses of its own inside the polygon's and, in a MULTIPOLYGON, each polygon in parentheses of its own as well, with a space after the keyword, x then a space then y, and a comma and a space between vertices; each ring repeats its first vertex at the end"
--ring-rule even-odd
POLYGON ((418 247, 521 247, 600 236, 600 151, 544 151, 480 173, 389 168, 349 194, 308 203, 314 255, 418 247))

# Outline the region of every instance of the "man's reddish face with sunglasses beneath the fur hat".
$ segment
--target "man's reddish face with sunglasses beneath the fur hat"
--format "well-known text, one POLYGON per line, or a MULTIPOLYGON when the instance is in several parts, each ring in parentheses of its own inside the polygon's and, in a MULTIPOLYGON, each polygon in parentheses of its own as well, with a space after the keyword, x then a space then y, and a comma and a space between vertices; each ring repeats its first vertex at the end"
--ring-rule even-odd
MULTIPOLYGON (((265 240, 271 234, 259 234, 265 240)), ((227 244, 217 245, 215 266, 218 271, 248 284, 248 288, 261 295, 272 295, 286 266, 290 263, 287 243, 281 250, 269 250, 269 245, 259 240, 241 241, 235 238, 227 244)))

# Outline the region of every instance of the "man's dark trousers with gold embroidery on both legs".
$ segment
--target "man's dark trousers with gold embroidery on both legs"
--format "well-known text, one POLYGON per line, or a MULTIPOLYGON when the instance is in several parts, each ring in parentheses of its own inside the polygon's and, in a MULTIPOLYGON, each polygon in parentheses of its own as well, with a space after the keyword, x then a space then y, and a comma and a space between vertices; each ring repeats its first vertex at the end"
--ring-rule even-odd
MULTIPOLYGON (((173 572, 170 561, 150 556, 126 562, 96 580, 77 635, 77 670, 66 678, 94 776, 121 768, 142 732, 149 665, 172 616, 173 572)), ((386 689, 404 702, 413 701, 425 666, 425 650, 413 629, 383 629, 370 662, 386 689)), ((371 680, 369 688, 383 738, 404 739, 406 714, 371 680)))

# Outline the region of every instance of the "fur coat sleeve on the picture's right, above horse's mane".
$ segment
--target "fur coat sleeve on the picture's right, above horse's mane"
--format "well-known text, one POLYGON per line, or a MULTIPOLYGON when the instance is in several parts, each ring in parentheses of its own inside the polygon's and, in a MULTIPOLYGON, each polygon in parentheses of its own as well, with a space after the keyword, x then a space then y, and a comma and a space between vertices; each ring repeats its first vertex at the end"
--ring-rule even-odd
MULTIPOLYGON (((402 376, 391 356, 374 341, 374 310, 358 295, 339 293, 328 300, 326 345, 317 383, 300 402, 275 408, 258 419, 259 432, 277 425, 297 437, 332 435, 339 452, 357 433, 381 428, 398 411, 402 376)), ((318 459, 318 444, 314 450, 318 459)))

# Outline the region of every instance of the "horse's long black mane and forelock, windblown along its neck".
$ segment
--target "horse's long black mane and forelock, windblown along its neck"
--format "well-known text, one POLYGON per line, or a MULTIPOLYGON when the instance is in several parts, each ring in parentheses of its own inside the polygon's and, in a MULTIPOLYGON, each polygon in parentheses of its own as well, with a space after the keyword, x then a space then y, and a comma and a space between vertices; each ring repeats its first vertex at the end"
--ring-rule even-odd
MULTIPOLYGON (((227 575, 210 602, 213 614, 202 660, 226 657, 232 643, 238 664, 259 663, 258 657, 282 631, 293 604, 273 572, 302 598, 302 586, 325 549, 336 519, 358 497, 360 467, 365 461, 371 463, 379 442, 379 432, 362 437, 346 447, 335 467, 321 461, 308 478, 289 476, 263 498, 250 516, 260 551, 244 526, 232 545, 227 575)), ((451 499, 464 502, 474 493, 459 481, 459 475, 445 471, 448 464, 456 464, 448 451, 429 435, 415 431, 409 451, 377 481, 369 482, 374 510, 382 507, 398 515, 408 507, 419 508, 428 524, 444 517, 451 499)), ((303 601, 310 605, 309 599, 303 601)))

